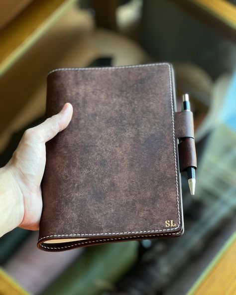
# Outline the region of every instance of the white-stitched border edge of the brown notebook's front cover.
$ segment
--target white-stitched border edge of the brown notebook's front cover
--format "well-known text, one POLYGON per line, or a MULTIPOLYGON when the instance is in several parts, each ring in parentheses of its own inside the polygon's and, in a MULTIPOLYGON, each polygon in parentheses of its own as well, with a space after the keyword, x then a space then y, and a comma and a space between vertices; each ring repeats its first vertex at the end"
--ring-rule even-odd
MULTIPOLYGON (((130 65, 130 66, 117 66, 117 67, 93 67, 93 68, 59 68, 52 70, 48 73, 48 76, 57 71, 78 71, 78 70, 115 70, 115 69, 124 69, 124 68, 140 68, 140 67, 148 67, 148 66, 159 66, 166 65, 169 71, 169 81, 170 81, 170 99, 171 99, 171 113, 172 113, 172 128, 173 128, 173 147, 174 147, 174 158, 175 158, 175 174, 176 174, 176 191, 177 191, 177 209, 178 209, 178 226, 170 229, 160 229, 160 230, 144 230, 144 231, 132 231, 132 232, 119 232, 119 233, 96 233, 96 234, 63 234, 63 235, 49 235, 42 237, 38 240, 41 241, 50 237, 69 237, 69 236, 100 236, 100 235, 117 235, 117 234, 136 234, 136 233, 148 233, 148 232, 161 232, 161 231, 170 231, 175 230, 180 227, 180 210, 179 210, 179 192, 178 192, 178 174, 177 174, 177 162, 176 162, 176 147, 175 147, 175 127, 174 127, 174 105, 173 105, 173 81, 171 75, 171 66, 169 63, 152 63, 152 64, 144 64, 144 65, 130 65)), ((174 234, 174 233, 171 233, 174 234)), ((169 234, 169 235, 171 235, 169 234)), ((77 244, 79 245, 79 244, 77 244)), ((41 245, 40 245, 41 246, 41 245)), ((68 246, 69 247, 69 246, 68 246)), ((58 249, 58 248, 54 248, 58 249)))

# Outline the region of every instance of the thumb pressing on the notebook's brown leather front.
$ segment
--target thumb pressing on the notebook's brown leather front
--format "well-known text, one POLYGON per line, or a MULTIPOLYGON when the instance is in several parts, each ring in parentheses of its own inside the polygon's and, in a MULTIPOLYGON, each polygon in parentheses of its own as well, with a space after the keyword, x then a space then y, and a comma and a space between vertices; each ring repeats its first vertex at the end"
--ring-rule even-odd
POLYGON ((70 103, 66 103, 62 110, 46 119, 43 123, 33 127, 34 136, 40 138, 44 143, 50 141, 58 132, 64 130, 70 123, 73 114, 73 107, 70 103))

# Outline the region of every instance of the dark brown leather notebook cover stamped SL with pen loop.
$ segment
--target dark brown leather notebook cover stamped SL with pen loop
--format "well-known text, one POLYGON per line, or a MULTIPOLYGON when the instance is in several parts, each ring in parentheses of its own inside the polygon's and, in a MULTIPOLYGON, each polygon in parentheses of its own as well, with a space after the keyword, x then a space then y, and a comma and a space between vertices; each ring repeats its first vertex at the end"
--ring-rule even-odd
POLYGON ((196 155, 192 113, 175 113, 174 88, 168 63, 49 73, 46 117, 66 102, 74 113, 46 143, 39 249, 183 233, 180 165, 196 155))

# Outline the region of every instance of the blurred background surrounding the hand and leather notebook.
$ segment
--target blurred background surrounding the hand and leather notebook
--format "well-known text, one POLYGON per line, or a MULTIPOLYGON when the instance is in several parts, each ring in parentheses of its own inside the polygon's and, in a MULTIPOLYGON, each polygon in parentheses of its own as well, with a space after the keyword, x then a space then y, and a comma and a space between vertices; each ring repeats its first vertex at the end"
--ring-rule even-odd
POLYGON ((1 0, 0 164, 44 120, 51 69, 162 61, 194 113, 185 234, 46 253, 16 228, 0 238, 0 294, 236 294, 236 0, 1 0))

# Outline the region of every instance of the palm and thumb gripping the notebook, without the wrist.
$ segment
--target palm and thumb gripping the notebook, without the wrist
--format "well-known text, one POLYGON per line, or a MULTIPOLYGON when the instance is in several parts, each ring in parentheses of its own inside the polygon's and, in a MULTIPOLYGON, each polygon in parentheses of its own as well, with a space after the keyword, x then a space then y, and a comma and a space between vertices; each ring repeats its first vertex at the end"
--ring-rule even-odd
POLYGON ((42 212, 41 181, 46 163, 45 143, 69 124, 73 113, 70 104, 42 124, 26 130, 9 166, 21 191, 24 203, 22 228, 37 230, 42 212), (68 107, 70 106, 70 107, 68 107))

